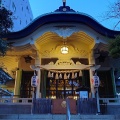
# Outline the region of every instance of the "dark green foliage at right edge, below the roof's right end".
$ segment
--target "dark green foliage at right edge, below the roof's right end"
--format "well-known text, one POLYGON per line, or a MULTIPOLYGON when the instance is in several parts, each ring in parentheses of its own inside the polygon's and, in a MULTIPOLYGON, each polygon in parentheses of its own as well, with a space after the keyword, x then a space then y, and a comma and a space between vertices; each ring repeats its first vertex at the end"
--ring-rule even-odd
POLYGON ((120 58, 120 35, 109 41, 109 54, 113 58, 120 58))

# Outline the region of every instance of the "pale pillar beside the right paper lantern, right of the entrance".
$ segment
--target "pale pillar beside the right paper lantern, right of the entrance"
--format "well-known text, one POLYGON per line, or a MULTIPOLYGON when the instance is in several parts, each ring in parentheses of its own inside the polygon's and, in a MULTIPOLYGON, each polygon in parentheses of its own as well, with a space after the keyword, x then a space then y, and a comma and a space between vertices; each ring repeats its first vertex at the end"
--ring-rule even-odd
MULTIPOLYGON (((94 58, 94 53, 93 50, 91 50, 90 54, 89 54, 89 64, 90 65, 95 65, 95 58, 94 58)), ((93 75, 94 75, 94 67, 90 67, 90 87, 91 87, 91 98, 95 98, 95 89, 93 86, 93 75)))

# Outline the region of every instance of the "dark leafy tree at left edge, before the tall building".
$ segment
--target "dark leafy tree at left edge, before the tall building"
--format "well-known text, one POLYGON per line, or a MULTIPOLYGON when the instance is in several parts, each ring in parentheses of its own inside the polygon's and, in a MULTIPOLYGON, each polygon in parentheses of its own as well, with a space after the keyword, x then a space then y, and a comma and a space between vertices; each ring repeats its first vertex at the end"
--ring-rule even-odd
POLYGON ((13 22, 11 17, 12 17, 12 12, 10 10, 7 10, 4 7, 0 7, 0 53, 2 55, 5 55, 8 49, 7 41, 3 40, 2 36, 10 32, 10 28, 13 27, 13 22))

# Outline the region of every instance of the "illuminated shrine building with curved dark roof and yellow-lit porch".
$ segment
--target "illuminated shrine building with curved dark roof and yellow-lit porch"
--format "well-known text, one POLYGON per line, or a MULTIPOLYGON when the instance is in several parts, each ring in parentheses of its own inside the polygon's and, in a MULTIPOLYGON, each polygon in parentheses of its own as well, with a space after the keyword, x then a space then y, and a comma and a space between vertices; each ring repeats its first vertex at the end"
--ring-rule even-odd
POLYGON ((34 71, 39 78, 37 98, 72 96, 76 99, 76 89, 80 86, 88 87, 89 97, 94 98, 95 71, 100 78, 100 97, 115 97, 119 92, 114 74, 117 66, 108 54, 107 39, 119 33, 69 6, 61 6, 40 16, 25 29, 5 36, 8 42, 13 42, 13 47, 0 61, 15 78, 14 95, 20 97, 32 97, 34 71), (63 45, 67 46, 67 54, 61 53, 63 45), (26 62, 25 58, 30 61, 26 62), (12 71, 16 71, 14 76, 12 71))

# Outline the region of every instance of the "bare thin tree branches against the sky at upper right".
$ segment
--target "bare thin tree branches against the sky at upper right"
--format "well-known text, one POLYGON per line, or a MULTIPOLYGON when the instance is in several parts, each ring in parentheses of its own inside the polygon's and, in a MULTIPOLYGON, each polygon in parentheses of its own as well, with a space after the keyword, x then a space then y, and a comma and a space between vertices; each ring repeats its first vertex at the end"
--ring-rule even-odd
POLYGON ((114 19, 116 23, 114 29, 120 24, 120 0, 116 0, 113 4, 110 4, 108 11, 103 16, 104 20, 114 19))

